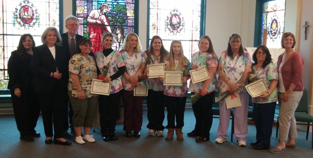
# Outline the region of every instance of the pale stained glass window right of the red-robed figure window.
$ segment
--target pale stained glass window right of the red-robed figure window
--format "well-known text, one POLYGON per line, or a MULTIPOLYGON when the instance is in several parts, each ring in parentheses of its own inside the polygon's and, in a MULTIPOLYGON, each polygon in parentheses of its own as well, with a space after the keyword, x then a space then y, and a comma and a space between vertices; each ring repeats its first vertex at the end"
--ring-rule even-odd
POLYGON ((172 40, 180 40, 184 55, 191 60, 199 49, 201 0, 150 0, 149 7, 149 44, 158 35, 169 50, 172 40))

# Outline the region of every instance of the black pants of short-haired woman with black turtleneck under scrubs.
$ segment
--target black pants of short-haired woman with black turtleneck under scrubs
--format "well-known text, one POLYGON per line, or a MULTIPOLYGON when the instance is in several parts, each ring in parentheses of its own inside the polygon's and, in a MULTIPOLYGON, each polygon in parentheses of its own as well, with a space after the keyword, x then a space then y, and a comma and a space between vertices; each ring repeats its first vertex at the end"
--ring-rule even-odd
POLYGON ((99 96, 99 113, 101 133, 114 132, 118 116, 118 105, 121 101, 121 91, 109 96, 99 96))

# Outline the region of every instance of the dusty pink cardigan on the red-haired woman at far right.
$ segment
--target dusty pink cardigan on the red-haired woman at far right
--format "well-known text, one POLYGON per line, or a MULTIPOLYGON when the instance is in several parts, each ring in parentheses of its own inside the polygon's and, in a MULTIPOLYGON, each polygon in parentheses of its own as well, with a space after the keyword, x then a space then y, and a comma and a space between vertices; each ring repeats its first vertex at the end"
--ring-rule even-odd
MULTIPOLYGON (((278 57, 277 68, 283 59, 283 54, 278 57)), ((283 77, 285 91, 288 90, 291 83, 295 84, 296 87, 293 91, 303 91, 303 58, 300 53, 294 52, 291 57, 285 61, 283 67, 281 67, 281 76, 283 77)))

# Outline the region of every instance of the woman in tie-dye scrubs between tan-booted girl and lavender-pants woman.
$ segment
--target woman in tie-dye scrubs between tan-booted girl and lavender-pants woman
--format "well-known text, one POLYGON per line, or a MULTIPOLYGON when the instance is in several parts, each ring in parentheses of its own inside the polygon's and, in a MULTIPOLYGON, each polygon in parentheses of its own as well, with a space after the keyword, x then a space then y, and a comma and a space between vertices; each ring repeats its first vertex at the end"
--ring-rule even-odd
POLYGON ((190 80, 188 91, 191 91, 191 94, 201 94, 203 97, 192 104, 196 125, 193 131, 187 133, 187 136, 198 136, 196 141, 204 142, 210 140, 210 130, 213 122, 212 106, 214 90, 217 89, 216 68, 218 58, 214 53, 210 37, 201 37, 198 47, 200 51, 194 53, 191 58, 191 70, 196 70, 205 65, 208 68, 210 78, 198 83, 192 83, 192 80, 190 80))

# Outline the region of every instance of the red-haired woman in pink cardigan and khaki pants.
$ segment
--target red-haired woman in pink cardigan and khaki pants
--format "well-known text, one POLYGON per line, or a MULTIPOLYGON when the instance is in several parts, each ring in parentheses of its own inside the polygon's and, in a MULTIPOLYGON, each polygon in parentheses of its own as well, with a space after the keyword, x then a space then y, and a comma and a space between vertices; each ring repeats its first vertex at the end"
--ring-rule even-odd
POLYGON ((295 47, 295 36, 285 32, 281 37, 281 47, 285 52, 278 57, 278 104, 279 110, 279 143, 270 152, 280 153, 286 148, 295 149, 295 138, 298 137, 295 121, 295 110, 302 97, 303 59, 295 47), (289 139, 288 143, 286 143, 289 139))

